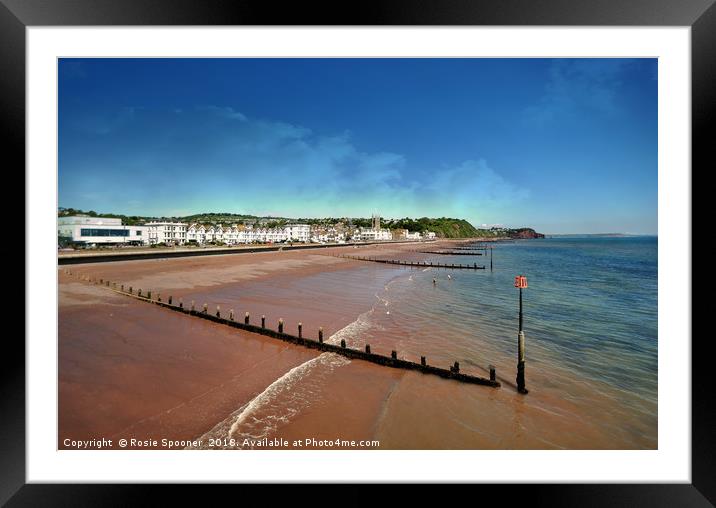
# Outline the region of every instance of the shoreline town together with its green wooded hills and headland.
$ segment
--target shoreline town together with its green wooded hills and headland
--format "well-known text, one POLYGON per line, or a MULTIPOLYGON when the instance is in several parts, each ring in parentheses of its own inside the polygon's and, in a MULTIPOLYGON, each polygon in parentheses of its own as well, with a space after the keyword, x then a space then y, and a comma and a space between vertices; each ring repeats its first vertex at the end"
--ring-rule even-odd
MULTIPOLYGON (((66 210, 66 209, 65 209, 66 210)), ((71 209, 70 209, 71 210, 71 209)), ((95 213, 62 213, 57 219, 60 250, 117 247, 232 247, 275 244, 346 244, 431 241, 447 239, 509 239, 541 237, 529 228, 493 227, 477 230, 461 219, 390 219, 374 214, 366 219, 248 218, 224 224, 227 217, 203 216, 204 221, 145 220, 95 213), (208 219, 208 220, 207 220, 208 219), (434 225, 431 230, 430 225, 434 225), (406 227, 407 226, 407 227, 406 227)), ((74 212, 74 210, 72 210, 74 212)), ((217 214, 218 215, 218 214, 217 214)))

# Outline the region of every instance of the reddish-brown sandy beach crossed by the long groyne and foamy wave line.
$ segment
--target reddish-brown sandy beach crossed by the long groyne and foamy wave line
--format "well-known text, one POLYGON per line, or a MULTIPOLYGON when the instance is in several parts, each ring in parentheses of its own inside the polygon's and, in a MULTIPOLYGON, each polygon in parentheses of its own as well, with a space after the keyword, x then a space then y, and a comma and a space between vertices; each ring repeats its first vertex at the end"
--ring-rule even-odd
MULTIPOLYGON (((380 292, 405 270, 332 254, 425 259, 415 250, 365 246, 60 267, 58 446, 68 438, 201 438, 199 447, 207 448, 226 436, 378 440, 386 449, 653 445, 648 432, 635 439, 642 430, 625 430, 616 418, 597 422, 600 394, 592 385, 575 384, 571 400, 549 389, 519 396, 511 357, 495 358, 501 389, 463 385, 177 315, 81 280, 103 278, 185 305, 193 300, 197 308, 207 303, 212 312, 219 305, 239 318, 249 312, 252 322, 265 315, 272 328, 282 318, 289 333, 299 322, 306 336, 322 327, 328 340, 345 337, 349 347, 362 347, 361 317, 382 305, 380 292)), ((374 350, 396 347, 414 359, 406 334, 407 342, 372 338, 374 350)), ((465 368, 484 375, 483 365, 465 368)), ((555 379, 546 367, 530 370, 535 384, 555 379)))

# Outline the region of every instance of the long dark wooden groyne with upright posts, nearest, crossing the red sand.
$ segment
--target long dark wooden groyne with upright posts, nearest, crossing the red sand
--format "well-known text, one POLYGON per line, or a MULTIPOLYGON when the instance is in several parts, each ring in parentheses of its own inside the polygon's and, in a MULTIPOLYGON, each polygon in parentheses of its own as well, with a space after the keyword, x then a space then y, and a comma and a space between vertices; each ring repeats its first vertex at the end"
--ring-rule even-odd
MULTIPOLYGON (((68 275, 72 275, 72 272, 70 272, 70 271, 66 271, 65 273, 68 275)), ((234 319, 235 315, 234 315, 233 309, 229 310, 228 315, 227 314, 222 315, 221 309, 218 306, 216 307, 215 313, 212 313, 212 312, 209 312, 209 307, 208 307, 208 304, 206 304, 206 303, 203 304, 201 310, 197 310, 195 308, 194 301, 192 301, 190 307, 187 308, 184 306, 182 299, 179 299, 178 302, 174 302, 174 299, 172 296, 169 296, 169 298, 166 301, 163 301, 162 297, 159 293, 155 293, 155 296, 153 298, 151 291, 142 293, 141 289, 137 289, 135 292, 135 290, 131 286, 125 287, 124 285, 118 285, 116 282, 111 282, 109 280, 91 279, 89 277, 82 277, 82 280, 85 280, 85 281, 93 283, 93 284, 98 284, 100 286, 106 287, 107 289, 109 289, 115 293, 130 297, 130 298, 134 298, 135 300, 140 300, 140 301, 143 301, 146 303, 158 305, 160 307, 172 310, 174 312, 186 314, 186 315, 193 316, 193 317, 198 317, 201 319, 206 319, 207 321, 212 321, 214 323, 231 326, 232 328, 238 328, 240 330, 245 330, 247 332, 258 333, 260 335, 265 335, 267 337, 279 339, 284 342, 290 342, 292 344, 304 346, 309 349, 317 349, 319 351, 336 353, 341 356, 345 356, 346 358, 351 358, 351 359, 355 359, 355 360, 363 360, 366 362, 383 365, 385 367, 392 367, 395 369, 416 370, 416 371, 422 372, 423 374, 432 374, 435 376, 440 376, 442 378, 460 381, 462 383, 478 384, 478 385, 490 386, 493 388, 498 388, 501 386, 500 382, 496 380, 496 373, 495 373, 495 369, 493 367, 490 367, 490 378, 489 379, 480 377, 480 376, 464 374, 464 373, 460 372, 460 364, 458 362, 455 362, 451 367, 445 369, 442 367, 435 367, 432 365, 428 365, 425 356, 421 356, 420 363, 416 363, 416 362, 411 362, 409 360, 403 360, 403 359, 398 358, 397 351, 391 351, 391 354, 389 357, 375 354, 375 353, 371 352, 370 344, 365 345, 365 350, 351 349, 346 346, 345 340, 341 340, 340 345, 328 344, 323 341, 323 328, 319 328, 318 338, 317 338, 317 340, 314 340, 314 339, 307 338, 307 337, 303 336, 303 330, 302 330, 301 323, 298 324, 298 336, 296 336, 296 335, 291 335, 289 333, 285 333, 283 331, 284 330, 283 319, 278 320, 278 330, 272 330, 271 328, 266 327, 265 316, 261 316, 261 324, 260 325, 254 325, 254 324, 251 324, 251 316, 248 312, 244 315, 243 321, 237 321, 234 319), (223 317, 223 316, 228 316, 228 317, 223 317)))

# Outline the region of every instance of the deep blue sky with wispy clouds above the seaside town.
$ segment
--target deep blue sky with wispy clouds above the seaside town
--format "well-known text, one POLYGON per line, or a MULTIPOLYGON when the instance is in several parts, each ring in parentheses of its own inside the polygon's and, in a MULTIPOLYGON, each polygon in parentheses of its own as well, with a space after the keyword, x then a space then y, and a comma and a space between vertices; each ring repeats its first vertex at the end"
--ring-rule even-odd
POLYGON ((61 59, 59 206, 657 232, 655 59, 61 59))

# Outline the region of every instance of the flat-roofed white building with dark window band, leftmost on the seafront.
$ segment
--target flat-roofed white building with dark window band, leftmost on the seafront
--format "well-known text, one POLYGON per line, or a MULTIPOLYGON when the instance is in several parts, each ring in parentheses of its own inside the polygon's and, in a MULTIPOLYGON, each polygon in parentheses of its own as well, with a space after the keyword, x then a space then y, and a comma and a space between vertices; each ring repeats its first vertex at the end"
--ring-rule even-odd
POLYGON ((84 245, 141 245, 148 232, 146 226, 125 226, 122 219, 75 215, 57 218, 57 235, 84 245))

